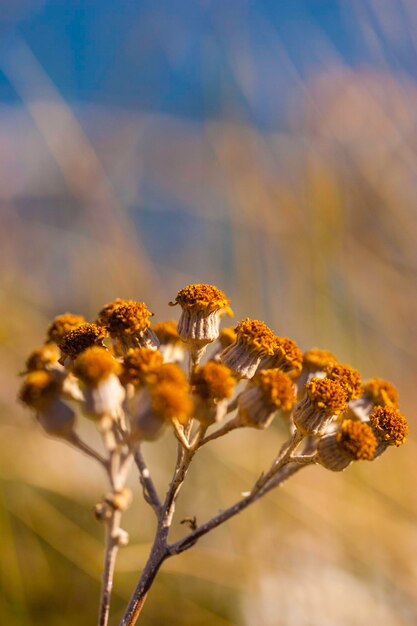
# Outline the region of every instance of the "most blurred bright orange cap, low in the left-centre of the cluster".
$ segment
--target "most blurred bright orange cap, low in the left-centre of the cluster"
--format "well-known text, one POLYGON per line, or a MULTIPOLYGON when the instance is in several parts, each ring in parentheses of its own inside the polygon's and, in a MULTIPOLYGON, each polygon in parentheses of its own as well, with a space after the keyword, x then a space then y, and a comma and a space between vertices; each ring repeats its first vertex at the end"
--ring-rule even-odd
POLYGON ((150 397, 152 413, 164 421, 184 424, 191 415, 193 404, 186 387, 164 382, 150 388, 150 397))

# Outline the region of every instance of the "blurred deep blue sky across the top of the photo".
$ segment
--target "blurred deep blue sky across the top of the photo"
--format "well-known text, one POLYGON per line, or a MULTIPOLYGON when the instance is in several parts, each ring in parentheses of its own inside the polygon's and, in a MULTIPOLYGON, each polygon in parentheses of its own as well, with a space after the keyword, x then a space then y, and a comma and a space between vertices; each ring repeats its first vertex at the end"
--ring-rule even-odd
MULTIPOLYGON (((371 0, 0 0, 0 51, 23 40, 67 102, 274 127, 298 81, 332 59, 416 73, 405 4, 391 22, 390 4, 380 14, 371 0)), ((18 100, 4 74, 0 100, 18 100)))

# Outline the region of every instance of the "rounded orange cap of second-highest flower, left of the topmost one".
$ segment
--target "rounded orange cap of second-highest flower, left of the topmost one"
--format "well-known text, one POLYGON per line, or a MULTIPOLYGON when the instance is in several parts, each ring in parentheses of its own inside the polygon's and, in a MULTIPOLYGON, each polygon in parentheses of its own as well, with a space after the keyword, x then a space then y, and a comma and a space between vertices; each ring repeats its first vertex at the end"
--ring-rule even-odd
POLYGON ((140 336, 150 327, 152 315, 144 302, 126 300, 109 312, 106 328, 111 337, 140 336))

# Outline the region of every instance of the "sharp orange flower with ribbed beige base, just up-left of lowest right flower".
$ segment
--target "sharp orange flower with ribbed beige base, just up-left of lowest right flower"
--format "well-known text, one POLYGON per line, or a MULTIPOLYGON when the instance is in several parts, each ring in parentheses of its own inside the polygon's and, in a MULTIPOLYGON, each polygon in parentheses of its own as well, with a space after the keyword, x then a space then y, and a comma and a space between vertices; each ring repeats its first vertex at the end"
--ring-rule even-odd
POLYGON ((346 407, 346 392, 338 382, 312 378, 306 385, 305 398, 294 409, 294 424, 304 435, 318 435, 346 407))

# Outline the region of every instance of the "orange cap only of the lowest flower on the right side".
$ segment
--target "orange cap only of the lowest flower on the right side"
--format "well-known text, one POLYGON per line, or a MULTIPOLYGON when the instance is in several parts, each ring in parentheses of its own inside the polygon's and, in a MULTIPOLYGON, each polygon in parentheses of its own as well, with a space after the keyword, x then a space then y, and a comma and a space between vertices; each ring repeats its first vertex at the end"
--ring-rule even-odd
POLYGON ((345 419, 339 426, 336 442, 352 460, 372 461, 377 440, 372 428, 365 422, 345 419))

